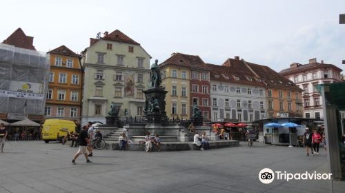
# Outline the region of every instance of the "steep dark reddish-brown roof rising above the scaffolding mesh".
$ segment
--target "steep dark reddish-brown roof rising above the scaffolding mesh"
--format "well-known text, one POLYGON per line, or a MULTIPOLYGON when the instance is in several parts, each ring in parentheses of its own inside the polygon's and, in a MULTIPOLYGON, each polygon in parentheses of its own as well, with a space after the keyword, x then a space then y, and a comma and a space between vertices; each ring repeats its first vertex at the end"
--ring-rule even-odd
POLYGON ((14 45, 19 48, 25 48, 29 50, 36 50, 34 45, 32 45, 34 41, 34 37, 26 36, 26 34, 18 28, 15 30, 7 39, 5 39, 2 43, 6 43, 9 45, 14 45))

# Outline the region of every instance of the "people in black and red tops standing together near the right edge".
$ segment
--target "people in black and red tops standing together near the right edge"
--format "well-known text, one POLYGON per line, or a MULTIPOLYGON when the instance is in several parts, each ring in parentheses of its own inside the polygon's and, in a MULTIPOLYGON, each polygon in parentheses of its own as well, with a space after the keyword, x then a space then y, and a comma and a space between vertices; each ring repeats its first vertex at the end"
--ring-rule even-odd
POLYGON ((326 138, 325 134, 317 132, 316 129, 313 130, 313 133, 309 131, 309 128, 306 128, 306 132, 303 135, 302 143, 306 147, 306 156, 309 156, 309 148, 311 149, 311 155, 319 154, 319 145, 324 142, 324 148, 326 150, 326 138))

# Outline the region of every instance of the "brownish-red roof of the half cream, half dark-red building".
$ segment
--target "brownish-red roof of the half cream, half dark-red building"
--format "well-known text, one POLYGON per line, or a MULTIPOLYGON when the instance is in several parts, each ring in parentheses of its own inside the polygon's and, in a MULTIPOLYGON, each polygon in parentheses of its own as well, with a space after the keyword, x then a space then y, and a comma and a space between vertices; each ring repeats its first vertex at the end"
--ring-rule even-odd
POLYGON ((178 65, 191 69, 193 68, 199 70, 209 70, 208 65, 206 65, 206 63, 204 63, 204 61, 199 56, 181 53, 173 53, 170 58, 159 64, 159 66, 161 67, 165 65, 178 65))

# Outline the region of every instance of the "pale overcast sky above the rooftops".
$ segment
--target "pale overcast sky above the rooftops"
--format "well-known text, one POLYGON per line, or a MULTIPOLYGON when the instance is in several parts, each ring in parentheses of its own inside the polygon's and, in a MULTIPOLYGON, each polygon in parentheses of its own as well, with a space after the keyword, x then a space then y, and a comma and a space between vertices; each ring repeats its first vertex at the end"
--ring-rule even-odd
POLYGON ((273 70, 317 58, 345 70, 345 1, 36 1, 0 2, 0 39, 22 28, 37 50, 88 47, 97 32, 119 29, 154 59, 173 52, 221 64, 238 55, 273 70))

